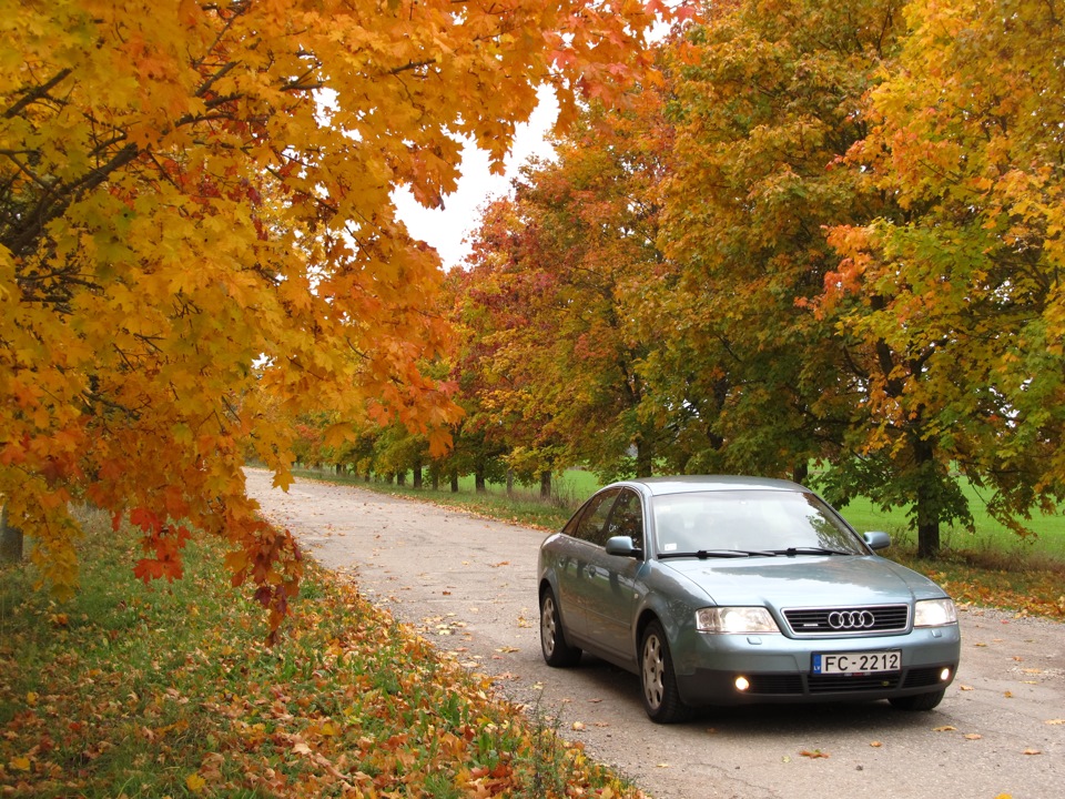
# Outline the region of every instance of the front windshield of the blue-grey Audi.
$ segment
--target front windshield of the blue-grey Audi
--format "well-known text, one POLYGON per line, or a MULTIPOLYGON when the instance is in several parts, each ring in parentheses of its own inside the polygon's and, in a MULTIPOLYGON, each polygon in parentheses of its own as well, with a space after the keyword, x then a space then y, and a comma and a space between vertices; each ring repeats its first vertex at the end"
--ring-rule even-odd
POLYGON ((866 555, 813 494, 716 490, 655 497, 659 557, 866 555))

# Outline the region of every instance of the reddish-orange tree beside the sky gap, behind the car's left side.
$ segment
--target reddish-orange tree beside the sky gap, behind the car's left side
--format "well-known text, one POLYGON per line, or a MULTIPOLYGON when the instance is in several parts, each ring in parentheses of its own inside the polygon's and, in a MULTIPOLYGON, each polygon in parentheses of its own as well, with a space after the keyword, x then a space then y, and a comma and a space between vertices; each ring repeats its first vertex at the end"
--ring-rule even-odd
POLYGON ((475 237, 468 293, 487 351, 480 403, 508 463, 648 475, 663 437, 646 415, 647 289, 661 271, 653 189, 670 141, 653 85, 590 107, 475 237), (632 453, 630 456, 629 453, 632 453))

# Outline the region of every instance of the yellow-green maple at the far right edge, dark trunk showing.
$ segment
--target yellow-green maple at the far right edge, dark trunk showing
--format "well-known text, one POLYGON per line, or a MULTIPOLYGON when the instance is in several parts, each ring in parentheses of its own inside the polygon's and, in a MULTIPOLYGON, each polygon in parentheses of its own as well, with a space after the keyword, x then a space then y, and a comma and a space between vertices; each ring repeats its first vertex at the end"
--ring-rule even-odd
POLYGON ((1065 23, 1055 3, 910 3, 899 68, 849 156, 894 212, 838 225, 823 312, 862 347, 862 446, 913 468, 919 550, 968 522, 950 469, 1018 533, 1063 496, 1065 23))

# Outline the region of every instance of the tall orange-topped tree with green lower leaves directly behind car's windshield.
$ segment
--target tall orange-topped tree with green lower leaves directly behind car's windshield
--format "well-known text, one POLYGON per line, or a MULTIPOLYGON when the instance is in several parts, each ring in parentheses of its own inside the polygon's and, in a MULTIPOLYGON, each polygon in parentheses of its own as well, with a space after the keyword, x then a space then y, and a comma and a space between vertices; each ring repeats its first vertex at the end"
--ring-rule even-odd
POLYGON ((676 170, 662 246, 677 334, 656 364, 683 471, 804 479, 838 457, 858 388, 831 323, 804 307, 838 256, 826 224, 878 198, 834 168, 865 134, 862 98, 892 54, 899 0, 707 3, 670 49, 676 170))

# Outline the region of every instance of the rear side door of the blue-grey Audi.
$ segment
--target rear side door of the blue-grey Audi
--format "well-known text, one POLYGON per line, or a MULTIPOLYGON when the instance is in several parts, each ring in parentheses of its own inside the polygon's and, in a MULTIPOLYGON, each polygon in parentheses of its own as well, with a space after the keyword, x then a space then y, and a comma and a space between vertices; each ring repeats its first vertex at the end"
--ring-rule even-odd
POLYGON ((608 488, 596 494, 562 529, 564 554, 556 562, 558 600, 567 634, 586 638, 588 631, 588 594, 591 590, 590 569, 595 568, 597 550, 610 517, 613 500, 620 490, 608 488))

